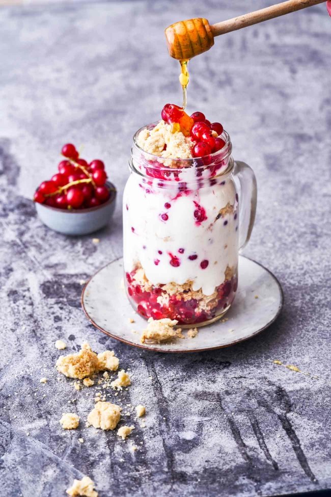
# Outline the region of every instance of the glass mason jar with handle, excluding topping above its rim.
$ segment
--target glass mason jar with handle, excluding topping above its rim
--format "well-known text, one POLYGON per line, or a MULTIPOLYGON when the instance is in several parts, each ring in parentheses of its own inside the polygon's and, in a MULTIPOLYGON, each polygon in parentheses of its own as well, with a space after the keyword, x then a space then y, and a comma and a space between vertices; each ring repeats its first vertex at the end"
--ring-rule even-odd
POLYGON ((238 251, 255 219, 255 175, 233 160, 226 132, 218 152, 164 159, 137 145, 142 129, 133 137, 123 197, 127 296, 146 319, 203 326, 235 298, 238 251))

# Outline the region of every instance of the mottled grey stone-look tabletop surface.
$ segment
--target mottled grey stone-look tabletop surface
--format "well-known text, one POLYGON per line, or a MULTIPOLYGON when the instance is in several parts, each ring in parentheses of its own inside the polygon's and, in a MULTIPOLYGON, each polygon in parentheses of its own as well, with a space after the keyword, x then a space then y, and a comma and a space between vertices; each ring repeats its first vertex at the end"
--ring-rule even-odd
POLYGON ((324 5, 225 35, 191 62, 189 109, 222 121, 235 158, 257 175, 257 220, 245 254, 268 267, 285 293, 281 316, 263 334, 185 356, 107 338, 80 308, 79 281, 121 255, 120 201, 97 245, 91 236, 51 232, 31 201, 68 141, 84 145, 87 159, 106 161, 121 197, 134 131, 156 120, 167 101, 180 103, 163 28, 269 3, 0 10, 1 495, 59 497, 85 474, 100 497, 249 497, 331 487, 331 19, 324 5), (146 428, 137 424, 132 438, 139 451, 113 432, 84 427, 94 390, 76 392, 58 378, 53 343, 60 337, 69 351, 85 340, 98 352, 112 348, 131 368, 122 402, 142 402, 148 411, 146 428), (277 366, 276 358, 318 379, 277 366), (68 410, 83 420, 76 431, 59 424, 68 410))

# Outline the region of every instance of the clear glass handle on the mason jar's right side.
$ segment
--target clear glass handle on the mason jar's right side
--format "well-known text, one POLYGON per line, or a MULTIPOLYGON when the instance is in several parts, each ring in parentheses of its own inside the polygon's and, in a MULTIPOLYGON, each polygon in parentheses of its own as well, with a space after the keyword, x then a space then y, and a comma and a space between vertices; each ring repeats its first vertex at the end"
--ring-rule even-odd
POLYGON ((254 226, 257 184, 253 169, 241 161, 235 161, 234 176, 239 180, 239 250, 249 242, 254 226))

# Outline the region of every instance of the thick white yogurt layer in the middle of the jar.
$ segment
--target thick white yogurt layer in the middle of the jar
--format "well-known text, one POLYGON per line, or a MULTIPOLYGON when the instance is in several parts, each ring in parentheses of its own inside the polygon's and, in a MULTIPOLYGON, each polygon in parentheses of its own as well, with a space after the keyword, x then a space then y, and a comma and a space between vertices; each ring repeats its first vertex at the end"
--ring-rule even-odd
POLYGON ((234 182, 229 176, 225 180, 221 177, 216 185, 211 186, 208 181, 199 189, 195 182, 194 189, 181 192, 178 198, 175 181, 173 189, 156 185, 157 180, 152 186, 143 184, 134 173, 127 181, 123 201, 125 271, 131 272, 140 263, 155 285, 192 280, 194 290, 201 288, 205 295, 211 295, 225 281, 227 267, 236 268, 238 264, 234 182), (146 193, 145 187, 150 193, 146 193), (166 207, 166 203, 171 207, 166 207), (199 206, 207 217, 202 222, 197 222, 199 206), (226 209, 227 206, 230 208, 226 209), (222 209, 224 212, 216 220, 222 209), (195 255, 195 260, 189 258, 195 255), (174 256, 178 258, 178 267, 171 264, 174 256), (201 267, 203 261, 208 261, 205 269, 201 267))

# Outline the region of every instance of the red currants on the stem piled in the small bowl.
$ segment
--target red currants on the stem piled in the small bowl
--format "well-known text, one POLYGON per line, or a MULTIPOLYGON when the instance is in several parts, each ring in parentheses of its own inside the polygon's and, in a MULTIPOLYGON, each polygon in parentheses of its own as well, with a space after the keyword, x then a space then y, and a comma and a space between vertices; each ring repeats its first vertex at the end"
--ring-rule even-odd
POLYGON ((84 209, 96 207, 109 198, 105 185, 107 174, 99 159, 88 162, 79 159, 74 145, 67 143, 62 147, 58 170, 50 181, 43 181, 38 187, 34 201, 59 209, 84 209))

